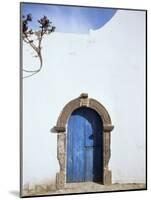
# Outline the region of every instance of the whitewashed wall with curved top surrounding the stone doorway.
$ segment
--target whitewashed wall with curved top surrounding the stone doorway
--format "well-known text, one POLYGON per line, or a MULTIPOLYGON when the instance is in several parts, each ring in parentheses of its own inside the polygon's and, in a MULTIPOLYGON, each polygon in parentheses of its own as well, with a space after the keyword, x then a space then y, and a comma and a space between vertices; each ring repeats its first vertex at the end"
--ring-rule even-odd
MULTIPOLYGON (((33 66, 30 51, 25 45, 24 66, 33 66)), ((43 41, 43 60, 43 70, 23 80, 23 183, 54 180, 59 165, 50 129, 82 92, 107 108, 115 126, 113 182, 143 182, 145 13, 117 11, 89 35, 54 33, 43 41)))

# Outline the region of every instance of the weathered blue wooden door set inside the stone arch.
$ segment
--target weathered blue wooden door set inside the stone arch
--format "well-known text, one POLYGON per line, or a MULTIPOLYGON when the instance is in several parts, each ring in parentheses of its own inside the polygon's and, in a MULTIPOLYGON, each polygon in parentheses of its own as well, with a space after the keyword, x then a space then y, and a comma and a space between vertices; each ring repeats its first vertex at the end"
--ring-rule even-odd
POLYGON ((96 111, 75 110, 67 128, 67 182, 103 179, 103 123, 96 111))

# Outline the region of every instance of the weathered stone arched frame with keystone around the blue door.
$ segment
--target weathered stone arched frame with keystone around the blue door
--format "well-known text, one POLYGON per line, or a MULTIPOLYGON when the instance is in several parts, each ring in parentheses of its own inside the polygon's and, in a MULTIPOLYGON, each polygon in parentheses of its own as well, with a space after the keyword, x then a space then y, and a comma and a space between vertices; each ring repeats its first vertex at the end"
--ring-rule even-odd
POLYGON ((56 174, 56 188, 63 189, 66 185, 66 144, 67 144, 67 123, 72 112, 80 107, 89 107, 95 110, 103 121, 103 184, 112 184, 111 171, 108 163, 111 155, 110 132, 113 130, 111 118, 105 107, 95 99, 88 98, 88 94, 82 93, 80 97, 70 101, 62 110, 53 132, 57 133, 57 158, 60 165, 60 172, 56 174))

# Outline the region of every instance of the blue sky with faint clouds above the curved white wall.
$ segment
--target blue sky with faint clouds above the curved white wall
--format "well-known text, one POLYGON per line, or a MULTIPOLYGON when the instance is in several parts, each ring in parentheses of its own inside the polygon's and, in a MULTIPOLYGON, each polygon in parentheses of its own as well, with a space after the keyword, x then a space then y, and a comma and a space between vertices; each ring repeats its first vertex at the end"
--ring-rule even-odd
POLYGON ((116 13, 116 9, 59 6, 23 3, 21 14, 31 13, 33 21, 30 28, 37 29, 37 19, 46 15, 56 26, 56 32, 89 33, 104 26, 116 13))

